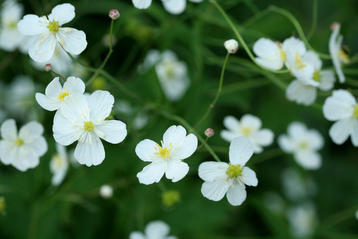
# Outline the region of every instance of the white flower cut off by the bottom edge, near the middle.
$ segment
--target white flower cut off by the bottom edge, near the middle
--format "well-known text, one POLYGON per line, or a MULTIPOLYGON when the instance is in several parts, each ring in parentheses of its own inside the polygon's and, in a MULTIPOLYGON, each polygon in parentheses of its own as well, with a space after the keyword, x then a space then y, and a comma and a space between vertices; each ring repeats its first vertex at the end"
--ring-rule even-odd
POLYGON ((132 231, 129 239, 177 239, 176 236, 168 236, 170 227, 164 221, 151 221, 145 226, 144 232, 132 231))

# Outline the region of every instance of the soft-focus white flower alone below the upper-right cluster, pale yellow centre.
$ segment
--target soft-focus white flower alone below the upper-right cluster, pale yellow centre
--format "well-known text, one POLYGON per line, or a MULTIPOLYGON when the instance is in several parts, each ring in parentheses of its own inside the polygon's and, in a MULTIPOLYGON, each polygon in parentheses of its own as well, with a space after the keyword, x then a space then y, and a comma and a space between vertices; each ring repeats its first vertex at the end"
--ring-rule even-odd
POLYGON ((301 122, 292 122, 287 127, 288 135, 280 135, 278 143, 286 153, 293 153, 301 167, 315 170, 321 167, 322 158, 318 150, 323 148, 322 135, 315 129, 307 129, 301 122))

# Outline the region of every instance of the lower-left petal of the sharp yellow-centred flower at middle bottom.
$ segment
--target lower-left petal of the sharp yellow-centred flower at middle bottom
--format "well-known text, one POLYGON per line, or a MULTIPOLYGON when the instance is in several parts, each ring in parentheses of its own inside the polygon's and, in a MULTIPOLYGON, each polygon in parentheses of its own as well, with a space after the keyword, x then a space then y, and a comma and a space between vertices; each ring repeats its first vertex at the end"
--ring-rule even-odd
POLYGON ((143 168, 143 170, 137 173, 137 178, 140 183, 149 185, 154 182, 159 182, 163 177, 166 168, 166 162, 160 161, 158 163, 151 163, 143 168))

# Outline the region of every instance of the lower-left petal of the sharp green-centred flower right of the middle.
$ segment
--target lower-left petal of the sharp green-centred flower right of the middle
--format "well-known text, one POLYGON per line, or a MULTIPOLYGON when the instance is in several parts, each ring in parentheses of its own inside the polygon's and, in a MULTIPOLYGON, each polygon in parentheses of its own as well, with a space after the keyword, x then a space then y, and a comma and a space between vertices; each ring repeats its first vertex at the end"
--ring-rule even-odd
POLYGON ((223 180, 213 182, 205 181, 202 185, 201 192, 207 199, 220 201, 225 196, 229 186, 229 183, 223 180))

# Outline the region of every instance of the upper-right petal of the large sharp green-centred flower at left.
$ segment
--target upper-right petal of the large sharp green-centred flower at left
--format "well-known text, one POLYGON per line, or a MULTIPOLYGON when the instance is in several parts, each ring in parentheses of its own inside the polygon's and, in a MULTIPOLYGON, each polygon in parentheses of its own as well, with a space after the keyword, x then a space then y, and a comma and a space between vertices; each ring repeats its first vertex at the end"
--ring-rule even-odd
POLYGON ((105 120, 112 111, 114 97, 108 91, 97 90, 89 96, 88 107, 92 121, 105 120))

